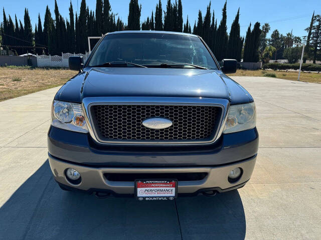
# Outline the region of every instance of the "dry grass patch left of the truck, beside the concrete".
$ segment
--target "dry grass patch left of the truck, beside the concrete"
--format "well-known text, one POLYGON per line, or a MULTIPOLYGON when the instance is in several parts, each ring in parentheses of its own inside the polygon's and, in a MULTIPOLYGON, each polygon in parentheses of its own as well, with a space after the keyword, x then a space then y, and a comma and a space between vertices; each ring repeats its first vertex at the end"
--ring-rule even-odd
POLYGON ((62 85, 75 74, 64 68, 0 67, 0 101, 62 85))

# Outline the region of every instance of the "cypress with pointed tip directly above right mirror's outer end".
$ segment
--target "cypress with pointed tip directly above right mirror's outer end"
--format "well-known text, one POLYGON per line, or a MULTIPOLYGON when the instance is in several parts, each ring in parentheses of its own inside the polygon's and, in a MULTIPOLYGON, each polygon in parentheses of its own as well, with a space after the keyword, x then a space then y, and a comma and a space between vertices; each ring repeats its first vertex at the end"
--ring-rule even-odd
POLYGON ((226 57, 231 59, 236 59, 238 52, 239 52, 239 41, 240 41, 240 24, 239 24, 239 17, 240 17, 240 8, 238 9, 235 19, 231 25, 231 31, 227 46, 227 53, 226 57))

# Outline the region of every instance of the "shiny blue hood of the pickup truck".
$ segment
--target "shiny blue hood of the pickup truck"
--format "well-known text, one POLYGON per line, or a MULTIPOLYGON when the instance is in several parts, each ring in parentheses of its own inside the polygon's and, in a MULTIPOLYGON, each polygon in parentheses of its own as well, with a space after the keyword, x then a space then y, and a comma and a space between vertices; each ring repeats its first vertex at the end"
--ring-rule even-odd
MULTIPOLYGON (((97 67, 84 69, 58 92, 59 100, 81 102, 98 96, 208 97, 231 100, 230 88, 248 96, 219 70, 97 67), (226 79, 225 79, 225 78, 226 79), (83 87, 82 87, 83 85, 83 87)), ((244 99, 243 99, 244 101, 244 99)))

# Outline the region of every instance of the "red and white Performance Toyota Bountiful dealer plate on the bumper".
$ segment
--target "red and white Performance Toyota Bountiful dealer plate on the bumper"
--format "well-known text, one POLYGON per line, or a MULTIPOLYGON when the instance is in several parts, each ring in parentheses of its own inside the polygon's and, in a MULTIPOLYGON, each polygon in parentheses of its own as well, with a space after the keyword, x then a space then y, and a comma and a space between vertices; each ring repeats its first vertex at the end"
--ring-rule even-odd
POLYGON ((177 180, 135 180, 138 200, 173 200, 177 197, 177 180))

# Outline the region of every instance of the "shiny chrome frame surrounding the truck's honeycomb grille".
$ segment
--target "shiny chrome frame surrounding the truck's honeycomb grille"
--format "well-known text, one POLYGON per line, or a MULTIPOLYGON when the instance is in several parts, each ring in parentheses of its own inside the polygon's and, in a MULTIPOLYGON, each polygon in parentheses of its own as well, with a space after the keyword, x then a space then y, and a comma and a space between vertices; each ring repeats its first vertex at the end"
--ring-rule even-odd
MULTIPOLYGON (((193 97, 193 98, 185 98, 185 97, 85 97, 83 99, 83 109, 85 112, 85 118, 88 123, 88 128, 90 135, 99 143, 104 144, 121 144, 121 145, 184 145, 184 144, 209 144, 213 143, 215 140, 219 138, 222 133, 226 116, 227 110, 229 106, 229 101, 227 99, 217 99, 217 98, 202 98, 202 97, 193 97), (211 135, 203 139, 110 139, 102 136, 99 132, 98 127, 95 127, 94 124, 94 117, 93 117, 93 106, 95 105, 121 105, 121 106, 128 106, 128 108, 135 107, 135 106, 191 106, 190 109, 197 107, 220 107, 219 110, 220 115, 218 114, 218 119, 216 121, 215 130, 212 130, 211 135), (223 127, 222 127, 223 126, 223 127)), ((116 109, 121 107, 117 107, 116 109)), ((126 128, 126 125, 124 125, 126 128)), ((158 135, 159 136, 159 135, 158 135)), ((115 137, 117 138, 117 137, 115 137)))

